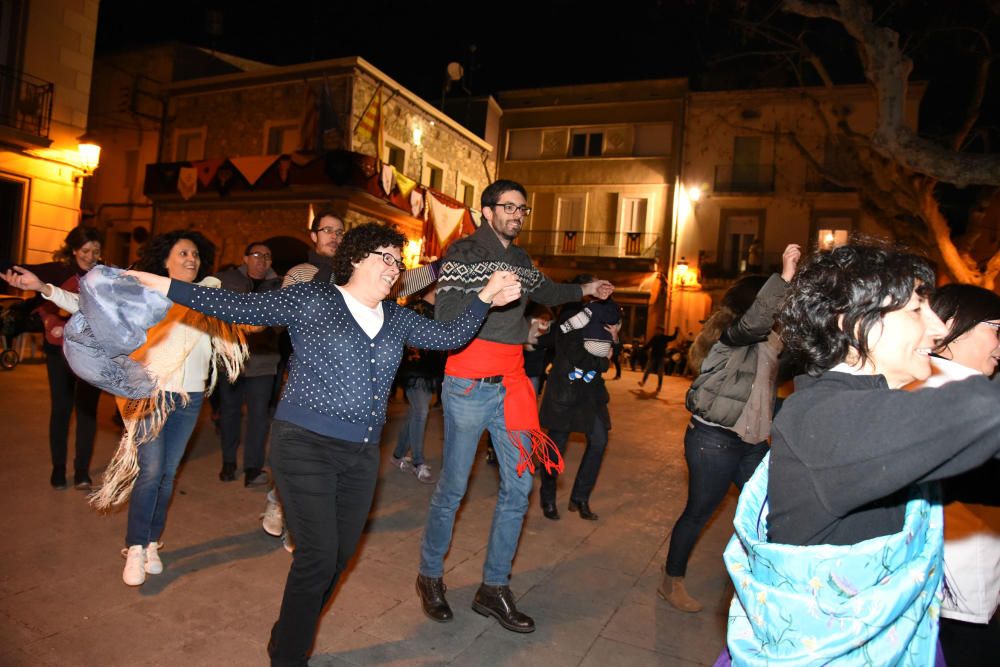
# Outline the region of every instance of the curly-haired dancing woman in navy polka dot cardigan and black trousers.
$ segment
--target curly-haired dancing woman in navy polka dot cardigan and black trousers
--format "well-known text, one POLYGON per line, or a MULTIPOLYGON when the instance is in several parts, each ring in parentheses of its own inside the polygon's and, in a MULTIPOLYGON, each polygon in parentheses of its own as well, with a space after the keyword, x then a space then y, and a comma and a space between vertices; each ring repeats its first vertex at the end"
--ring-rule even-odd
POLYGON ((462 347, 490 306, 520 298, 513 273, 498 271, 458 317, 434 321, 385 301, 403 264, 394 227, 360 225, 322 274, 273 292, 201 289, 129 272, 176 303, 228 322, 286 326, 294 352, 271 426, 271 466, 295 535, 281 613, 271 631, 272 665, 305 665, 320 612, 347 565, 371 509, 389 387, 407 345, 462 347))

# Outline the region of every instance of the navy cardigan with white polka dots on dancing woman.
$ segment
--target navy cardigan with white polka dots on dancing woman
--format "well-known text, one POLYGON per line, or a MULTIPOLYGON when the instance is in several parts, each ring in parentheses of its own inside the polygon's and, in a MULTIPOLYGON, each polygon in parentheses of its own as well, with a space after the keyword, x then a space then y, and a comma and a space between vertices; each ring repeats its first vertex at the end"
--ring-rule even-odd
POLYGON ((382 328, 369 338, 340 291, 327 283, 239 294, 173 280, 167 296, 226 322, 288 327, 294 352, 274 418, 331 438, 371 444, 378 444, 382 434, 389 388, 403 347, 462 347, 472 340, 490 308, 472 299, 455 319, 435 321, 394 301, 383 301, 382 328))

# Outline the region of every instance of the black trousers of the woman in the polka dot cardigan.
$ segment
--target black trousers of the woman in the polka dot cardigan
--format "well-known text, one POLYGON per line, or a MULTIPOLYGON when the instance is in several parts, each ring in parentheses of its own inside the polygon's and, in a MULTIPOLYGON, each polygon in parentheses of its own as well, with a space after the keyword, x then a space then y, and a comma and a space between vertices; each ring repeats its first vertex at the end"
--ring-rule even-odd
POLYGON ((323 606, 357 549, 378 480, 378 445, 345 442, 275 420, 271 469, 295 536, 272 665, 306 665, 323 606))

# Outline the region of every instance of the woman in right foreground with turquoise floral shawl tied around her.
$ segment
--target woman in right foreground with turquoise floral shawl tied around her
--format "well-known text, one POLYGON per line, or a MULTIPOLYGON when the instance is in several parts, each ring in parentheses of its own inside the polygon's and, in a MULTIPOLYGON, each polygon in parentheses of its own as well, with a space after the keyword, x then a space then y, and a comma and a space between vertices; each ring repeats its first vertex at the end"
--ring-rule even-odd
POLYGON ((997 455, 1000 386, 899 391, 930 375, 946 334, 933 284, 926 260, 874 243, 817 253, 792 281, 782 338, 808 375, 774 420, 724 554, 733 664, 940 660, 936 482, 997 455))

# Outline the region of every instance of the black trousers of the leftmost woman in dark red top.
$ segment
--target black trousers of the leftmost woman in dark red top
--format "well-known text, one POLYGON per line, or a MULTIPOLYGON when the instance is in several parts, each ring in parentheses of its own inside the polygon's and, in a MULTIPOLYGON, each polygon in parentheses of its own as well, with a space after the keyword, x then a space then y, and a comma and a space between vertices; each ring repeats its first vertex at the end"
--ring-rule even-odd
POLYGON ((69 419, 76 408, 76 458, 73 470, 86 475, 94 455, 94 436, 97 434, 97 402, 101 390, 73 374, 62 348, 45 346, 45 367, 49 374, 49 451, 52 467, 66 467, 66 450, 69 440, 69 419))

